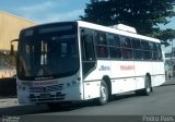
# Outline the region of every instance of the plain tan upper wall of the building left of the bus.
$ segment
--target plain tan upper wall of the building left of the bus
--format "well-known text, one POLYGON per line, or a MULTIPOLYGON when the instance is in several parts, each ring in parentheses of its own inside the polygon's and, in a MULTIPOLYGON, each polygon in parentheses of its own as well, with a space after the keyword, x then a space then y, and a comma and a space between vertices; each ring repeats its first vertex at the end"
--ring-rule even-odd
MULTIPOLYGON (((10 41, 19 38, 20 30, 33 25, 36 25, 36 23, 7 12, 0 12, 0 51, 10 50, 10 41)), ((16 50, 18 42, 14 44, 16 50)))

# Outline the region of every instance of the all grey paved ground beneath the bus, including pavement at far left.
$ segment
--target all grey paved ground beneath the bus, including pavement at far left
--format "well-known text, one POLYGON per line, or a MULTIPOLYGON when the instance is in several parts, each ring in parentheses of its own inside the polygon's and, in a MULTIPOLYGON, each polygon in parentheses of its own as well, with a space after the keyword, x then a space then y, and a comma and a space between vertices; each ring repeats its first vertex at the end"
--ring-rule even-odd
POLYGON ((105 106, 84 102, 50 110, 45 105, 18 106, 9 98, 0 108, 0 122, 175 122, 175 85, 170 84, 155 87, 150 96, 116 96, 105 106))

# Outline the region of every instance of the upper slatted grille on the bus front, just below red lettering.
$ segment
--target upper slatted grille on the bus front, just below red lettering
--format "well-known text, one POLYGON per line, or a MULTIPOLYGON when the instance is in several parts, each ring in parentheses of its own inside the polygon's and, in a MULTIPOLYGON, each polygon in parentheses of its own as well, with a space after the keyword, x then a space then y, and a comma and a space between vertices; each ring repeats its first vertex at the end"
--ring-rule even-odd
POLYGON ((30 87, 31 93, 49 93, 62 90, 63 84, 46 86, 46 87, 30 87))

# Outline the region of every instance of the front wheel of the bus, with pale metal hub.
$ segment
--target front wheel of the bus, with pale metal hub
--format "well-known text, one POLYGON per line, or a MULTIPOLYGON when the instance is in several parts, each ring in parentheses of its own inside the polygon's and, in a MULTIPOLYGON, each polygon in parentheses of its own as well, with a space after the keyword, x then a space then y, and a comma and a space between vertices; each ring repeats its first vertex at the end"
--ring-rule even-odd
POLYGON ((101 81, 100 87, 100 98, 97 98, 97 103, 103 106, 108 101, 108 87, 104 80, 101 81))

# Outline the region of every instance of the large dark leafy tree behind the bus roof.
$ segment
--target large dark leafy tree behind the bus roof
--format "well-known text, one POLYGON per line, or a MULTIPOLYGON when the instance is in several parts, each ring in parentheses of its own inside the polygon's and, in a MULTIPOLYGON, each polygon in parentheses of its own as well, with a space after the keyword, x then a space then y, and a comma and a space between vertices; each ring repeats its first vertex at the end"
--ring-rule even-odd
POLYGON ((175 0, 91 0, 80 17, 107 26, 122 23, 141 35, 166 41, 175 38, 175 29, 161 29, 159 25, 168 24, 168 19, 175 16, 174 7, 175 0))

